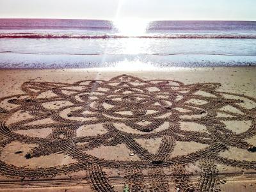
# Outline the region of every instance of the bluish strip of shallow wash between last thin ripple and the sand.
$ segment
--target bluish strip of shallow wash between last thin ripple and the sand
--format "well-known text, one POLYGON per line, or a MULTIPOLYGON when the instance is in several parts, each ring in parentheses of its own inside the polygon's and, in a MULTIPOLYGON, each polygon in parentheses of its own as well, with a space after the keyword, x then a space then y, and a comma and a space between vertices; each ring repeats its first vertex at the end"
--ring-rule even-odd
POLYGON ((256 66, 256 56, 204 54, 19 54, 0 53, 0 68, 123 68, 256 66))

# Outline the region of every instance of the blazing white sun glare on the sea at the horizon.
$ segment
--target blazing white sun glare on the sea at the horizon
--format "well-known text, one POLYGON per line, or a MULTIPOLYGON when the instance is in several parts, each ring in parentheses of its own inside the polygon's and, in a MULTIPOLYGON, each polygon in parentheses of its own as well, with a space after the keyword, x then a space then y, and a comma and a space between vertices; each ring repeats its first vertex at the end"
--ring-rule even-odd
POLYGON ((147 31, 148 21, 142 19, 116 19, 113 21, 120 35, 139 36, 147 31))

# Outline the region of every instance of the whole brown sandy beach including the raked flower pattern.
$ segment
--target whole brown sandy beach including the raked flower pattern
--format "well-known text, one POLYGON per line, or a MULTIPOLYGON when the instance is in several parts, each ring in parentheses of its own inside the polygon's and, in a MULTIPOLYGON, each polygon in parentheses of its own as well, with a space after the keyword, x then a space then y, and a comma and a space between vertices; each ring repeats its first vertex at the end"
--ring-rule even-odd
POLYGON ((0 70, 0 191, 255 191, 255 74, 0 70))

